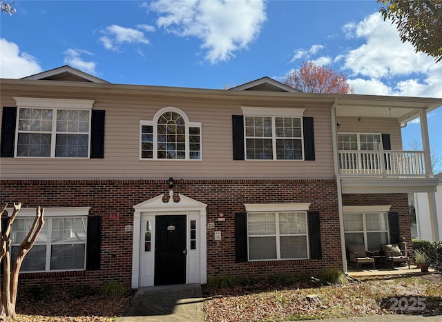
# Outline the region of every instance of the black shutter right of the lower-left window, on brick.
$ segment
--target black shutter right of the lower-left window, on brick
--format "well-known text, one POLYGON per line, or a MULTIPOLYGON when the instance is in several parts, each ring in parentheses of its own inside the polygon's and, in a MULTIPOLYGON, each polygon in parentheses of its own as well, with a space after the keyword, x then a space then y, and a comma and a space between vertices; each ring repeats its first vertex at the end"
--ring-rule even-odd
POLYGON ((88 217, 86 270, 99 270, 102 246, 102 217, 88 217))

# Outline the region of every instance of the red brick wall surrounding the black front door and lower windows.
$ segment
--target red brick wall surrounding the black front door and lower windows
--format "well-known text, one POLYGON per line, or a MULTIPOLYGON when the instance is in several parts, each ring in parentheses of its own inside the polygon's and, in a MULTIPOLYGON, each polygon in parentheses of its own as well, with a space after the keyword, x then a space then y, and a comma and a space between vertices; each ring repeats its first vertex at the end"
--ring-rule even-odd
MULTIPOLYGON (((102 216, 100 270, 84 272, 22 273, 21 285, 48 282, 55 285, 102 285, 118 281, 131 285, 133 205, 168 192, 165 181, 149 180, 3 180, 0 201, 35 208, 90 206, 90 216, 102 216), (118 219, 111 216, 118 215, 118 219)), ((342 268, 338 201, 335 180, 177 180, 176 193, 207 204, 207 222, 221 230, 220 245, 207 230, 207 274, 211 276, 263 276, 273 272, 314 273, 342 268), (322 260, 236 263, 235 214, 244 203, 311 203, 320 212, 322 260), (218 221, 222 212, 226 221, 218 221)), ((138 229, 138 228, 134 228, 138 229)))

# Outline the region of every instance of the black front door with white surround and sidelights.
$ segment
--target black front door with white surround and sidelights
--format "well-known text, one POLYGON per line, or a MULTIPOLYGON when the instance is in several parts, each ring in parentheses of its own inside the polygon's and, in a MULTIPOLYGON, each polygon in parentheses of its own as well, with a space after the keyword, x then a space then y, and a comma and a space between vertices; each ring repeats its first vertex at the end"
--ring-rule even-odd
POLYGON ((155 285, 186 283, 186 216, 155 217, 155 285))

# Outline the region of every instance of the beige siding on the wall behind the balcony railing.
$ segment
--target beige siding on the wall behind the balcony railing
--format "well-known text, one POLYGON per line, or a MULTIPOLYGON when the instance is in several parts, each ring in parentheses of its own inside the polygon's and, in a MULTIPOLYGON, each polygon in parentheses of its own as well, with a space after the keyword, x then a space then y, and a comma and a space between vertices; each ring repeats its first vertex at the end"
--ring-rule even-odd
POLYGON ((403 150, 401 124, 387 117, 338 117, 338 133, 388 133, 392 150, 403 150))

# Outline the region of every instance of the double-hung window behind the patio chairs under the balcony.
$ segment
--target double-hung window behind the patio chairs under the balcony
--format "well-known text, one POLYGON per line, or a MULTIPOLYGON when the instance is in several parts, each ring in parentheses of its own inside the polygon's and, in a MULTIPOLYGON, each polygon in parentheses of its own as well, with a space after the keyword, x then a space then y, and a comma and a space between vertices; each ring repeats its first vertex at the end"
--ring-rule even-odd
POLYGON ((378 250, 388 243, 387 212, 345 212, 346 244, 363 244, 366 250, 378 250))

